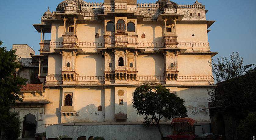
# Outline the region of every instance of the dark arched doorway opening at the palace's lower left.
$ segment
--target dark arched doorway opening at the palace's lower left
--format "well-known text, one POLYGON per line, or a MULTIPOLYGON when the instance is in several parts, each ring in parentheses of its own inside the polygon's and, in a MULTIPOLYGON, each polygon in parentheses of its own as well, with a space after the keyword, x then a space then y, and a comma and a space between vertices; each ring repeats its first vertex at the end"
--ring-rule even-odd
POLYGON ((37 130, 36 116, 29 113, 24 117, 22 123, 22 138, 34 136, 37 130))

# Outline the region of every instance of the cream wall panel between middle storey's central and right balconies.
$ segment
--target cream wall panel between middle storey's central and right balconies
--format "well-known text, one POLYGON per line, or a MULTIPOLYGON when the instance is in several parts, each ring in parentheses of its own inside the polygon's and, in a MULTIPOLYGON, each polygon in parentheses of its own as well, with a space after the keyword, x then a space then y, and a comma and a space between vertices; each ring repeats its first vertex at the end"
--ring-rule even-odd
POLYGON ((162 54, 140 54, 137 57, 138 76, 164 75, 164 58, 162 54))

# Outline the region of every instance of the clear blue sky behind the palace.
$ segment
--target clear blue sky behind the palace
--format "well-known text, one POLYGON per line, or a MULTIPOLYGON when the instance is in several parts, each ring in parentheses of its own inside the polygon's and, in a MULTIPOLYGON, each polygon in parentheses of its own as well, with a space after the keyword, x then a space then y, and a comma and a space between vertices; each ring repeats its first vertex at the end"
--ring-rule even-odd
MULTIPOLYGON (((85 0, 103 2, 103 0, 85 0)), ((36 54, 40 49, 40 33, 32 24, 40 23, 49 7, 56 11, 62 0, 0 0, 0 40, 8 49, 12 44, 28 44, 36 54)), ((152 3, 156 0, 137 0, 152 3)), ((195 0, 173 0, 177 4, 193 4, 195 0)), ((256 0, 199 0, 207 12, 207 20, 216 22, 209 28, 211 51, 219 52, 213 59, 239 52, 244 64, 256 64, 256 0)), ((50 40, 50 34, 45 35, 50 40)))

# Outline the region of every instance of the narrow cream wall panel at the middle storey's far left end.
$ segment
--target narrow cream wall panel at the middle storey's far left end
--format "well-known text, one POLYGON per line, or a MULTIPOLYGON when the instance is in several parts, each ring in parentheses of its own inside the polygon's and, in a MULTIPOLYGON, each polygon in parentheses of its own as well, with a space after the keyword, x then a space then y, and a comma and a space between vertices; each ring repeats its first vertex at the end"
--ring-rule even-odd
POLYGON ((62 75, 62 55, 49 54, 48 57, 48 76, 49 75, 62 75))

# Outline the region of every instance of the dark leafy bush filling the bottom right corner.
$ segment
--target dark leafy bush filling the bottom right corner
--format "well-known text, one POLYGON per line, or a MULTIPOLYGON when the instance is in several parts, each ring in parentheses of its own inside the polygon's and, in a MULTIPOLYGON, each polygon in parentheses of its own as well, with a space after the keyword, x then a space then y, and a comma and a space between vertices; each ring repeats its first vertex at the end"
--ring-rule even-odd
POLYGON ((246 139, 252 139, 252 136, 256 136, 256 112, 249 113, 246 119, 240 122, 238 130, 240 135, 246 139))

